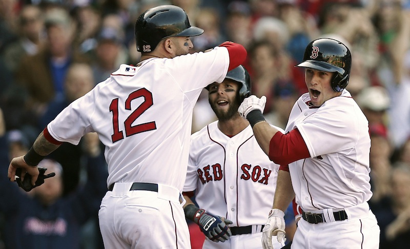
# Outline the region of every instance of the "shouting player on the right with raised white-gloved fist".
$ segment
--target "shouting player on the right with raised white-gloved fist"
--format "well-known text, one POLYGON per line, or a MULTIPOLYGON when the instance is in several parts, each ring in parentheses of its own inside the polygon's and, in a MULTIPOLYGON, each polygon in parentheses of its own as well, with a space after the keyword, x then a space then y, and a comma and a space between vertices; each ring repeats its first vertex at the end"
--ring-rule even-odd
POLYGON ((320 38, 306 47, 297 67, 305 68, 309 92, 296 101, 285 135, 264 121, 264 96, 245 98, 238 109, 263 151, 281 165, 263 248, 273 248, 272 235, 283 237, 283 211, 294 196, 302 218, 292 248, 379 247, 380 229, 367 203, 368 122, 345 90, 351 64, 340 41, 320 38))

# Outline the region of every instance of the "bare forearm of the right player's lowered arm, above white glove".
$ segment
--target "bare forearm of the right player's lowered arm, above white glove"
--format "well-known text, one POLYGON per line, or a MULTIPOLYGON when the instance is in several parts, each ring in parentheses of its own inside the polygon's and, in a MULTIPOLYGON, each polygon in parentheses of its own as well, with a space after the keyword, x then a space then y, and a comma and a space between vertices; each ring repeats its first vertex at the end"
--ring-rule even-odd
POLYGON ((293 198, 295 198, 295 193, 292 188, 291 174, 288 171, 279 170, 272 208, 284 212, 293 198))

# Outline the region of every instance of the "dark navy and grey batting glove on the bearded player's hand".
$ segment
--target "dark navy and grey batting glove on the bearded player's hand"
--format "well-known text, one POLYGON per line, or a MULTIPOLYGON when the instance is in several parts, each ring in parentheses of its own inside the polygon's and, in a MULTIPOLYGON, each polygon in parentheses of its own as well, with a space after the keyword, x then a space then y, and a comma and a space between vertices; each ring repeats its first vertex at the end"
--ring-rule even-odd
POLYGON ((228 225, 232 221, 224 219, 217 215, 206 213, 200 209, 194 216, 194 222, 197 223, 202 231, 210 240, 215 242, 224 242, 232 235, 228 225))

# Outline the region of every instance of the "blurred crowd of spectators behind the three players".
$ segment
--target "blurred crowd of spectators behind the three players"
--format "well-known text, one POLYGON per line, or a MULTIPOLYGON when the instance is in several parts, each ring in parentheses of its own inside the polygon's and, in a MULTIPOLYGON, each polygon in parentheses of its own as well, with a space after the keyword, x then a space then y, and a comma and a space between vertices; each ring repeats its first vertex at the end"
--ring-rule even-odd
MULTIPOLYGON (((192 37, 193 52, 226 40, 247 49, 252 93, 267 96, 265 118, 283 129, 306 92, 304 71, 294 67, 306 45, 319 37, 342 41, 353 58, 346 89, 369 121, 370 204, 381 227, 380 248, 408 247, 409 0, 0 0, 0 135, 7 160, 24 155, 49 121, 120 64, 138 63, 135 20, 162 4, 180 6, 191 25, 204 30, 192 37)), ((207 94, 195 106, 192 132, 216 120, 207 94)), ((103 156, 98 141, 83 140, 50 155, 64 171, 62 197, 87 181, 84 158, 103 156)), ((0 248, 6 248, 7 219, 0 212, 0 248)), ((101 248, 93 222, 83 225, 78 248, 101 248)))

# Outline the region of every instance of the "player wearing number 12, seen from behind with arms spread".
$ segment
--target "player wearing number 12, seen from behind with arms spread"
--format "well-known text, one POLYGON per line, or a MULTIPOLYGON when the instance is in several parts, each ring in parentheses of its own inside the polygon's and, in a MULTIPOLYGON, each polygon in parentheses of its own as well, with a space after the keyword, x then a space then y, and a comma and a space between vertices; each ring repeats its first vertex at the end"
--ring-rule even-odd
POLYGON ((190 248, 180 193, 193 107, 204 87, 221 82, 247 55, 231 42, 189 54, 190 36, 202 32, 177 6, 142 13, 135 24, 141 61, 121 65, 61 111, 25 156, 12 159, 10 179, 23 168, 35 185, 40 159, 61 142, 77 144, 96 132, 106 147, 109 173, 109 191, 99 210, 105 247, 190 248))

